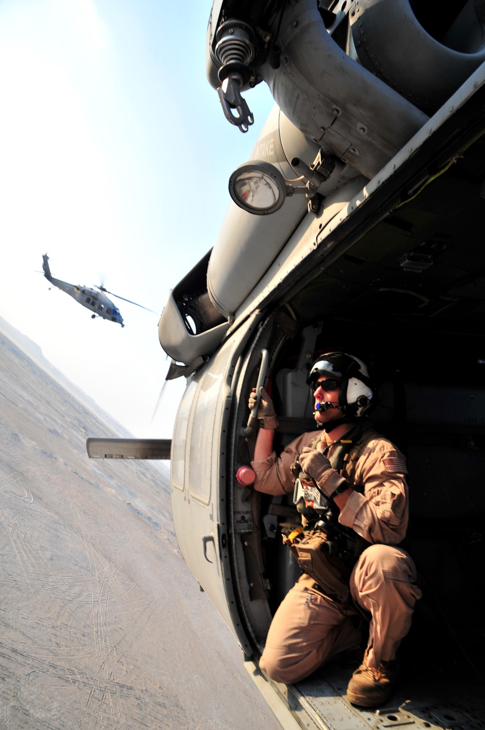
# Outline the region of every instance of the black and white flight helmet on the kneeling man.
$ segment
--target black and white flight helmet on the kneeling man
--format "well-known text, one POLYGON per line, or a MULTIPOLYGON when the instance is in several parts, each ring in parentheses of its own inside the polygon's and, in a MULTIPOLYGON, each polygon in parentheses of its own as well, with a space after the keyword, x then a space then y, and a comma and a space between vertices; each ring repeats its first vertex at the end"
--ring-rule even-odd
POLYGON ((307 385, 316 385, 322 375, 340 379, 338 406, 344 422, 369 415, 376 404, 376 388, 362 360, 347 353, 325 353, 311 366, 307 385))

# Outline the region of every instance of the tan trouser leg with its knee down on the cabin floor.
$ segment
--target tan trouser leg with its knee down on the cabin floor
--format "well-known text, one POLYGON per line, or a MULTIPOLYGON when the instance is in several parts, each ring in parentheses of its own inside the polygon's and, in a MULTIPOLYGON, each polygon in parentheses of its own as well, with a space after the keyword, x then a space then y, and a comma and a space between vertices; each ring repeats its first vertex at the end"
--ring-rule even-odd
POLYGON ((311 675, 335 653, 357 648, 351 607, 340 607, 298 583, 276 611, 260 658, 260 669, 276 682, 291 684, 311 675))

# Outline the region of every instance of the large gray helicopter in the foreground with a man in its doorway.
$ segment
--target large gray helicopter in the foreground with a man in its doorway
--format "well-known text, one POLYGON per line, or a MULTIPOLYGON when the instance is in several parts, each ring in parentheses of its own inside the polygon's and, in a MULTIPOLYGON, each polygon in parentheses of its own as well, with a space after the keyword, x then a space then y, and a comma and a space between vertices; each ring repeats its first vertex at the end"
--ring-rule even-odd
POLYGON ((206 71, 225 118, 250 134, 260 82, 276 105, 228 176, 214 247, 160 318, 167 379, 187 379, 171 441, 88 439, 95 458, 170 456, 182 555, 288 730, 483 725, 482 11, 471 0, 214 2, 206 71), (255 440, 247 400, 271 384, 276 451, 311 431, 306 374, 334 343, 375 364, 373 423, 406 453, 424 576, 400 687, 375 711, 346 701, 344 663, 288 686, 258 667, 299 569, 281 540, 292 499, 241 477, 255 440))

